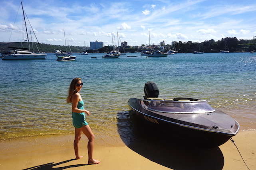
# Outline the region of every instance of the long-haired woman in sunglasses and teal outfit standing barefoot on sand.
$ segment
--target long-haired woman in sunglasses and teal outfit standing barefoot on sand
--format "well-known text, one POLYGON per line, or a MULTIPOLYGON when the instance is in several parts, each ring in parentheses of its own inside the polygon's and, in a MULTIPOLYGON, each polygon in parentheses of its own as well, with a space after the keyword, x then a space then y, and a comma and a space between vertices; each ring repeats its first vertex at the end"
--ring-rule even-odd
POLYGON ((82 158, 83 156, 79 155, 79 141, 81 139, 82 132, 88 138, 88 164, 99 164, 99 160, 93 159, 93 143, 95 136, 93 135, 91 128, 88 123, 85 121, 85 113, 90 115, 91 113, 88 110, 83 109, 83 100, 80 95, 80 90, 83 86, 81 78, 74 78, 69 86, 67 103, 72 104, 72 118, 73 125, 75 127, 75 140, 74 140, 74 149, 75 149, 75 159, 82 158))

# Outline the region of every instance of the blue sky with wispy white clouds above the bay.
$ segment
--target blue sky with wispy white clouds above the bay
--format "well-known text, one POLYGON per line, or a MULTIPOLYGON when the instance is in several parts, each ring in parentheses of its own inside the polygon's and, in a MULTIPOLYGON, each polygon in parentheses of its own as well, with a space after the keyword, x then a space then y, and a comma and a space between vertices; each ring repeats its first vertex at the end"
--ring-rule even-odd
MULTIPOLYGON (((64 29, 68 44, 74 46, 89 46, 90 41, 96 40, 112 45, 111 33, 117 44, 117 32, 121 41, 131 46, 149 44, 149 32, 151 44, 155 45, 161 41, 171 44, 256 36, 255 0, 23 0, 22 3, 38 41, 53 45, 65 45, 64 29)), ((0 14, 0 41, 23 41, 20 0, 0 0, 0 14)))

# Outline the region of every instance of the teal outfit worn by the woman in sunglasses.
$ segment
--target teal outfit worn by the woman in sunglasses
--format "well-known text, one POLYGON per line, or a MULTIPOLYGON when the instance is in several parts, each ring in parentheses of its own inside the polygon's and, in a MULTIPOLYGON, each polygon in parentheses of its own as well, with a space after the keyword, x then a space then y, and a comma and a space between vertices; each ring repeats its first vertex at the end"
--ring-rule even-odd
MULTIPOLYGON (((79 101, 77 104, 78 109, 83 109, 83 100, 79 101)), ((72 118, 73 118, 73 125, 76 128, 81 128, 88 123, 85 121, 85 114, 83 113, 76 113, 72 111, 72 118)))

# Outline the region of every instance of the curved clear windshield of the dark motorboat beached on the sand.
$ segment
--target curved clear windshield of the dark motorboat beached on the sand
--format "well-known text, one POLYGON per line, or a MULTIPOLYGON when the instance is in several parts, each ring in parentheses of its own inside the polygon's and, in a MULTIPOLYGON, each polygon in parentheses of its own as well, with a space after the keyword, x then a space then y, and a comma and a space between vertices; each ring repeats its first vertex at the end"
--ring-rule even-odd
POLYGON ((167 101, 144 100, 148 109, 165 113, 210 113, 213 109, 205 100, 167 101))

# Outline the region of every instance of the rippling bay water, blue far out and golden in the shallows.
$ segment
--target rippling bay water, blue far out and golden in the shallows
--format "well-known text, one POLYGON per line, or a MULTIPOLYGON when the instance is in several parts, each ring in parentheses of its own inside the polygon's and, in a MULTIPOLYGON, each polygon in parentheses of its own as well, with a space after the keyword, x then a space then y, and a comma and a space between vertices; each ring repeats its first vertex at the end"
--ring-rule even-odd
MULTIPOLYGON (((256 129, 256 57, 249 53, 175 54, 118 59, 79 55, 75 61, 0 60, 0 139, 73 133, 71 105, 65 98, 71 80, 83 80, 81 96, 91 112, 95 134, 118 136, 118 114, 129 114, 129 98, 143 98, 147 81, 159 97, 205 99, 234 117, 241 129, 256 129), (97 57, 97 59, 91 59, 97 57)), ((128 119, 128 118, 127 118, 128 119)))

